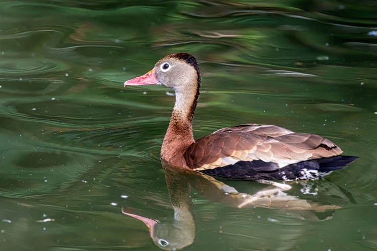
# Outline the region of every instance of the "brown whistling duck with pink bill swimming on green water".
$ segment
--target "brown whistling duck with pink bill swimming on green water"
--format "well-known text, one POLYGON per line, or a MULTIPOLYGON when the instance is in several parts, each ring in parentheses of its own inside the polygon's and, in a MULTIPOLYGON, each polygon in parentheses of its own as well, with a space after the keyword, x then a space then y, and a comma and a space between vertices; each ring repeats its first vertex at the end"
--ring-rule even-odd
POLYGON ((159 60, 127 85, 160 84, 175 92, 175 105, 161 147, 161 158, 182 168, 234 179, 300 180, 322 178, 357 157, 341 156, 333 142, 273 125, 223 128, 194 141, 192 120, 201 75, 196 59, 176 53, 159 60))

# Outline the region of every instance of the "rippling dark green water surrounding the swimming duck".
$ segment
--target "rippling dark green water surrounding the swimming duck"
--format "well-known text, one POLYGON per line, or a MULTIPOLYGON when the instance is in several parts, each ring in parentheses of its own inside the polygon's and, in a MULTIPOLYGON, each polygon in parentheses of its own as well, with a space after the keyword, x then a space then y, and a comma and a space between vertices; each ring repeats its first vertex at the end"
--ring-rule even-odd
POLYGON ((372 1, 0 2, 1 249, 374 250, 375 13, 372 1), (360 158, 275 191, 270 208, 237 208, 268 185, 170 174, 171 90, 123 82, 181 51, 203 77, 195 138, 274 124, 360 158), (122 211, 165 232, 154 244, 122 211))

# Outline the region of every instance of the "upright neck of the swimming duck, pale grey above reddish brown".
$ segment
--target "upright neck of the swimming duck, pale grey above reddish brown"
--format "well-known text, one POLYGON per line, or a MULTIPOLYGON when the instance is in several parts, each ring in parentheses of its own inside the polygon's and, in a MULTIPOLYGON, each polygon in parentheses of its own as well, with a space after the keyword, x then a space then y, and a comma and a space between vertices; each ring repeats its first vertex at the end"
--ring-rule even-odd
POLYGON ((161 147, 161 158, 181 167, 187 167, 183 153, 194 143, 193 117, 199 99, 200 78, 198 80, 197 87, 175 90, 175 105, 161 147))

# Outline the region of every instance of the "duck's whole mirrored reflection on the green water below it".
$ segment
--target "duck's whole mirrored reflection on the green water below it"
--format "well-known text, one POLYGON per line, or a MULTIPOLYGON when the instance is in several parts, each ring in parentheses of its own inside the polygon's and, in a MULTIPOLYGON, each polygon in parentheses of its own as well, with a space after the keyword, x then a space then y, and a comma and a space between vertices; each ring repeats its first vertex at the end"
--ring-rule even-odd
MULTIPOLYGON (((278 184, 272 181, 264 181, 269 185, 260 185, 253 193, 241 193, 234 187, 230 187, 215 178, 197 172, 185 172, 178 167, 172 166, 162 161, 167 187, 169 190, 170 201, 174 209, 173 220, 155 220, 131 213, 129 209, 122 208, 122 212, 135 219, 143 221, 149 228, 150 236, 153 242, 164 250, 180 250, 191 245, 196 236, 196 220, 191 200, 191 187, 202 193, 210 200, 221 202, 229 207, 264 207, 279 209, 289 213, 294 218, 305 220, 328 220, 332 218, 335 209, 340 206, 334 204, 325 204, 301 199, 299 196, 292 196, 286 192, 291 189, 290 185, 278 184)), ((329 182, 325 182, 329 187, 329 182)), ((233 182, 234 185, 242 185, 243 182, 233 182)), ((301 186, 302 183, 295 185, 301 186)), ((254 185, 259 185, 254 183, 254 185)), ((250 188, 250 186, 248 186, 250 188)), ((258 186, 255 186, 258 187, 258 186)), ((320 191, 320 183, 316 184, 320 191)), ((349 194, 342 195, 344 190, 337 189, 334 185, 336 196, 343 197, 347 202, 349 194)), ((296 189, 297 190, 297 189, 296 189)), ((298 188, 298 191, 300 189, 298 188)), ((326 190, 326 196, 333 191, 326 190)), ((339 202, 341 202, 339 200, 339 202)), ((344 201, 343 201, 344 202, 344 201)), ((232 233, 234 235, 238 233, 232 233)), ((286 234, 286 233, 285 233, 286 234)))

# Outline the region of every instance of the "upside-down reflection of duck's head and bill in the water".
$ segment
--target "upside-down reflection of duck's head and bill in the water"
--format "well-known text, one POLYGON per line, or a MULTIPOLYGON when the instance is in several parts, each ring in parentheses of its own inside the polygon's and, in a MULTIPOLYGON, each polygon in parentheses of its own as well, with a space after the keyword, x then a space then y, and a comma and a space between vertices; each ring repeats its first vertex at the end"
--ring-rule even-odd
POLYGON ((153 242, 164 250, 181 250, 194 242, 195 225, 193 227, 193 222, 190 218, 178 221, 175 219, 173 222, 160 222, 144 216, 127 213, 125 209, 122 209, 122 213, 143 221, 149 228, 153 242))

